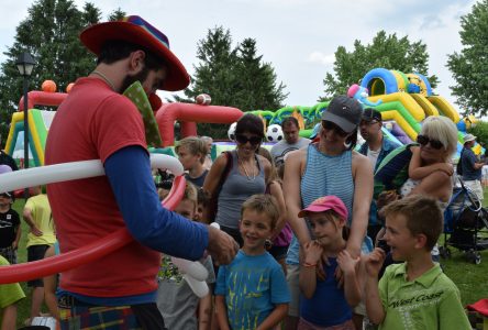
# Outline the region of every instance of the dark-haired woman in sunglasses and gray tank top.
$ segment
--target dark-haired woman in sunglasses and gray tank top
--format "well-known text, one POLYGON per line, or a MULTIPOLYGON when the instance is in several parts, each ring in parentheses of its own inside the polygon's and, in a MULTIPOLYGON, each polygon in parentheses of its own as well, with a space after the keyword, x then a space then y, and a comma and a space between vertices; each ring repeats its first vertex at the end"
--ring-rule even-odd
POLYGON ((247 113, 241 117, 235 128, 236 148, 230 154, 221 154, 210 167, 203 183, 203 190, 212 199, 218 196, 215 219, 206 219, 220 224, 242 246, 239 232, 241 206, 252 195, 264 194, 266 178, 271 165, 257 154, 264 138, 264 123, 257 116, 247 113), (225 170, 230 165, 229 170, 225 170), (222 177, 228 172, 226 177, 222 177), (224 180, 222 185, 220 182, 224 180), (221 189, 219 190, 219 186, 221 189))

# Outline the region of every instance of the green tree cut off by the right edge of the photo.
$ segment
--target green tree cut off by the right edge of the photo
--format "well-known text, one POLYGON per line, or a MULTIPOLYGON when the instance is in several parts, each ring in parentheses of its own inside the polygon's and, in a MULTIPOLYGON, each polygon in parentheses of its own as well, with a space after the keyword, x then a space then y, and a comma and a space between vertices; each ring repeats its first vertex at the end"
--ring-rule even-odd
POLYGON ((447 67, 453 73, 453 95, 464 114, 485 116, 488 112, 488 0, 481 0, 470 13, 461 18, 463 50, 448 55, 447 67))

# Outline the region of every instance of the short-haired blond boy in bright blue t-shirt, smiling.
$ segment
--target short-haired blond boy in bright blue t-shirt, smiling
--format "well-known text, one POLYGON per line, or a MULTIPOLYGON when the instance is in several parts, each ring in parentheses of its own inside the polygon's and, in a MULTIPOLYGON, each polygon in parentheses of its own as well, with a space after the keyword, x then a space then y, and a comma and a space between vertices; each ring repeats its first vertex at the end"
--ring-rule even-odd
POLYGON ((274 197, 253 195, 242 206, 244 241, 233 262, 219 268, 215 311, 221 330, 274 329, 288 312, 290 294, 281 266, 266 251, 279 218, 274 197))

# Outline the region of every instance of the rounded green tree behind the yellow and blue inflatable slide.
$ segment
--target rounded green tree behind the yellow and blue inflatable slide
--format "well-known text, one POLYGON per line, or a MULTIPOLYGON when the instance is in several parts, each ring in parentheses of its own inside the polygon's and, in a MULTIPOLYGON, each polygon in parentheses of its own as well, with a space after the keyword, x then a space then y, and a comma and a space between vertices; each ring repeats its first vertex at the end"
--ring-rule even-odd
MULTIPOLYGON (((371 44, 363 45, 356 40, 353 52, 339 46, 334 55, 334 75, 330 73, 325 75, 323 80, 325 95, 320 97, 319 101, 346 94, 351 85, 359 84, 364 75, 377 67, 406 74, 420 73, 425 76, 429 70, 429 54, 425 44, 420 41, 410 42, 408 36, 399 38, 396 33, 387 35, 382 30, 376 34, 371 44)), ((432 87, 439 82, 436 76, 430 76, 428 79, 432 87)))

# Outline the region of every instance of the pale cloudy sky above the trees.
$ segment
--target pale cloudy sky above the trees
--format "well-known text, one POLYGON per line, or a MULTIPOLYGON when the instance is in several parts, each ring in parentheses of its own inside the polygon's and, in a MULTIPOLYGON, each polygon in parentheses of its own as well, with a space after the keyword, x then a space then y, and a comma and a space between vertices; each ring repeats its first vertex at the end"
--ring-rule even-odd
MULTIPOLYGON (((74 1, 79 9, 86 1, 74 1)), ((441 82, 434 90, 453 106, 446 68, 447 55, 462 50, 461 16, 474 0, 97 0, 91 1, 106 20, 121 8, 137 14, 163 31, 171 51, 190 75, 195 73, 197 44, 215 26, 229 29, 233 45, 246 37, 256 40, 257 54, 275 68, 277 80, 287 87, 287 106, 313 106, 323 96, 323 78, 333 74, 334 52, 354 50, 355 40, 373 42, 378 31, 408 35, 428 46, 429 75, 441 82)), ((27 16, 32 0, 1 0, 0 62, 11 46, 15 28, 27 16)), ((366 73, 365 73, 366 74, 366 73)), ((211 92, 210 92, 211 95, 211 92)), ((247 110, 247 109, 244 109, 247 110)))

